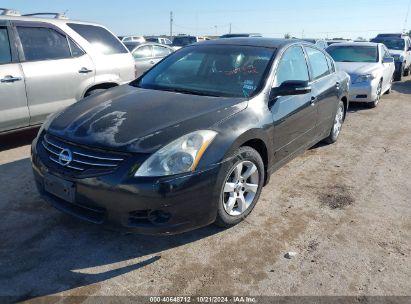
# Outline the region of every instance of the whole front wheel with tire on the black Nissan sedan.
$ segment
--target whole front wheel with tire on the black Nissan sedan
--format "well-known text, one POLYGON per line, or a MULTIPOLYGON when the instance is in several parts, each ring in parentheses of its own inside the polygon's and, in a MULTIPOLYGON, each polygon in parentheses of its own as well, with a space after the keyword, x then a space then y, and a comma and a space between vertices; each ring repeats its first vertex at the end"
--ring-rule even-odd
POLYGON ((220 186, 215 221, 225 228, 237 225, 251 213, 264 185, 264 163, 256 150, 241 147, 234 159, 220 186), (252 190, 247 191, 247 187, 252 190))

